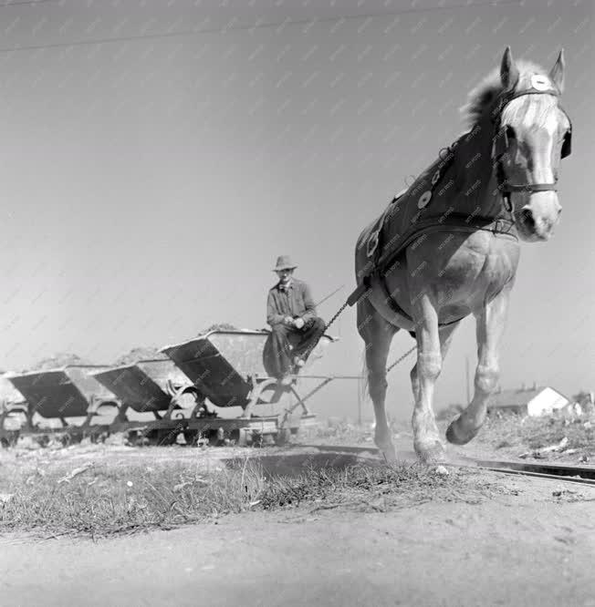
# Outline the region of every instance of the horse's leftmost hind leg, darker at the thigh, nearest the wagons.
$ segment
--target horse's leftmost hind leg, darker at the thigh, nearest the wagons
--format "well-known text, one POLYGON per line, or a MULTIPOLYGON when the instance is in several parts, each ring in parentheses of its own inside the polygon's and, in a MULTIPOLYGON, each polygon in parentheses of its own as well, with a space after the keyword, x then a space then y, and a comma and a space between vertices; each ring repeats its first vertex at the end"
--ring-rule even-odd
POLYGON ((386 361, 393 335, 399 327, 388 323, 374 310, 368 300, 358 303, 358 331, 365 342, 368 390, 374 405, 376 420, 374 442, 387 461, 396 461, 391 429, 386 418, 386 361))

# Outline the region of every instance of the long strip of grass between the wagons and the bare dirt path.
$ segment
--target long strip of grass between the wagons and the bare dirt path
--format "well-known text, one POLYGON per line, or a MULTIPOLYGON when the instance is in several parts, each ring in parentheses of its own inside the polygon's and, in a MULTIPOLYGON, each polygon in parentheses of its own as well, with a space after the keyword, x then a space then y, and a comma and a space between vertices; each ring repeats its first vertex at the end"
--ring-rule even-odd
POLYGON ((209 472, 192 464, 111 463, 72 468, 0 467, 0 531, 107 536, 172 529, 247 510, 409 507, 430 500, 476 503, 496 485, 473 471, 447 477, 420 465, 309 469, 265 478, 254 458, 209 472), (84 468, 84 467, 82 467, 84 468))

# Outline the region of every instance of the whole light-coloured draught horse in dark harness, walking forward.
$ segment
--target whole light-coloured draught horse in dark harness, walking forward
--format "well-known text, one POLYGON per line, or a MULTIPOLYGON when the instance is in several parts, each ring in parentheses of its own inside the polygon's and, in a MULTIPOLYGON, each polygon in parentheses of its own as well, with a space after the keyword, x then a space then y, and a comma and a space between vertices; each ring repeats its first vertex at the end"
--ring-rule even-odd
POLYGON ((360 233, 352 298, 365 344, 375 443, 388 461, 397 454, 385 410, 386 361, 400 329, 417 342, 411 383, 418 458, 447 461, 433 413, 434 385, 457 326, 470 314, 475 391, 446 439, 464 445, 485 421, 499 378, 519 240, 548 241, 561 211, 558 169, 570 153, 572 129, 559 105, 563 88, 563 50, 546 73, 532 62, 516 62, 507 46, 499 69, 462 108, 468 130, 360 233))

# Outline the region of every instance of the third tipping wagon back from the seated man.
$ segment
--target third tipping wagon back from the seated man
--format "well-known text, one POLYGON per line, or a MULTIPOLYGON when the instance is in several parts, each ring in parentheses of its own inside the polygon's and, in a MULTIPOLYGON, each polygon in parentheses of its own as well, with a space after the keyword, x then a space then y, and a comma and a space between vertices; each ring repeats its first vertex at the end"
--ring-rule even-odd
POLYGON ((106 436, 110 424, 96 424, 96 417, 103 407, 116 411, 120 402, 117 396, 89 375, 91 371, 104 368, 104 365, 65 365, 9 376, 11 384, 26 400, 22 432, 35 437, 41 445, 46 445, 51 438, 68 445, 79 442, 83 437, 96 441, 106 436), (36 414, 46 423, 37 423, 36 414), (82 421, 77 423, 72 418, 82 418, 82 421), (57 421, 59 426, 47 426, 48 420, 57 421))

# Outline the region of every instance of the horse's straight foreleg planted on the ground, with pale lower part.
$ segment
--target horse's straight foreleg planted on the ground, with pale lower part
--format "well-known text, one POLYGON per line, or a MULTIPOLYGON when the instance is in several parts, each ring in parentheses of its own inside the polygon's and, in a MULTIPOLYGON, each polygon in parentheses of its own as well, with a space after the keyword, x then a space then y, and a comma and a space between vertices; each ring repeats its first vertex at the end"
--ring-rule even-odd
MULTIPOLYGON (((444 461, 444 446, 433 415, 433 390, 442 370, 443 356, 438 312, 428 295, 423 295, 416 304, 415 317, 417 363, 412 371, 412 389, 415 397, 412 416, 413 447, 425 462, 444 461)), ((448 341, 446 339, 446 348, 448 341)))

